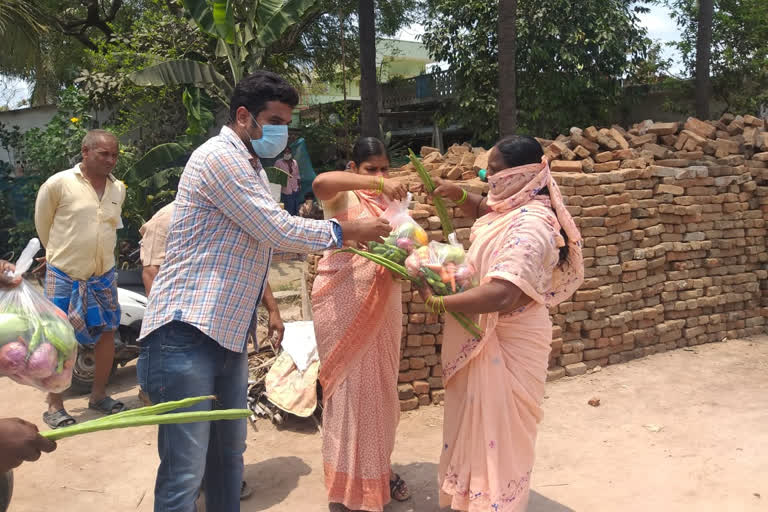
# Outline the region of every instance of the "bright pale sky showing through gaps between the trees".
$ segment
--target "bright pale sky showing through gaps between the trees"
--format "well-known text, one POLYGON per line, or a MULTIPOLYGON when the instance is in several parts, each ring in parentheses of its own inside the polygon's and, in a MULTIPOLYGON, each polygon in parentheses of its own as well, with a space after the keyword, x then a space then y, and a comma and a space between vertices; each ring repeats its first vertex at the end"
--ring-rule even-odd
MULTIPOLYGON (((650 9, 650 12, 640 16, 640 22, 648 29, 648 36, 662 43, 676 40, 680 31, 670 16, 669 10, 664 6, 653 6, 650 9)), ((411 25, 401 30, 397 37, 407 41, 418 41, 418 35, 423 32, 423 29, 424 27, 421 25, 411 25)), ((676 50, 665 46, 664 52, 665 57, 673 59, 672 73, 681 74, 682 63, 676 50)), ((15 108, 19 101, 28 98, 30 94, 28 84, 21 81, 9 81, 0 77, 0 105, 7 102, 10 108, 15 108), (3 91, 7 92, 3 94, 3 91)))

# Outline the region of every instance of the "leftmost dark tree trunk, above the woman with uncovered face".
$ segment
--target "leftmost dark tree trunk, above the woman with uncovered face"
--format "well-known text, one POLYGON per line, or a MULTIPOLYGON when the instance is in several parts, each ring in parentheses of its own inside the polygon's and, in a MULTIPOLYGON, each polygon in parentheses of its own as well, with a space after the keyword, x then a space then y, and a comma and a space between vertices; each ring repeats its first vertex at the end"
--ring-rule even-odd
POLYGON ((376 14, 374 0, 360 0, 360 132, 379 137, 379 95, 376 90, 376 14))

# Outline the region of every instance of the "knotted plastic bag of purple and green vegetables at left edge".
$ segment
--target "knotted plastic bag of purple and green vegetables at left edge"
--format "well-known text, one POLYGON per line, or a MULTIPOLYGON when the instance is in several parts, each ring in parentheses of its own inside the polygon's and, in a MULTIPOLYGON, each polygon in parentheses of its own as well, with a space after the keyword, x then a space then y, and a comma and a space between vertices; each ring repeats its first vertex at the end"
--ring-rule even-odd
MULTIPOLYGON (((40 250, 33 238, 16 263, 15 275, 40 250)), ((30 284, 0 290, 0 375, 43 391, 61 393, 72 381, 75 331, 66 315, 30 284)))

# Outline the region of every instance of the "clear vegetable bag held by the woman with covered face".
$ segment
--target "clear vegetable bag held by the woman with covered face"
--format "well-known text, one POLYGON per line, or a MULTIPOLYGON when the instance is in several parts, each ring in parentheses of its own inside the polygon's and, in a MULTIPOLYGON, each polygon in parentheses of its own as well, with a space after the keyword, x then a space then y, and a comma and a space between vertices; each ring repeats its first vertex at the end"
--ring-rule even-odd
POLYGON ((452 295, 475 285, 475 271, 467 263, 466 252, 455 233, 451 233, 448 242, 429 242, 405 260, 408 274, 425 279, 437 295, 452 295))

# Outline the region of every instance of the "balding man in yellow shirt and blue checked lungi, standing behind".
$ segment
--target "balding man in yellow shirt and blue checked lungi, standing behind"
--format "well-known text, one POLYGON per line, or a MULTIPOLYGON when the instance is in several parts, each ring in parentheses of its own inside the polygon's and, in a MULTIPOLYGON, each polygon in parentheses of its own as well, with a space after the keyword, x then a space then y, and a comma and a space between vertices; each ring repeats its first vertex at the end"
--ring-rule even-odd
MULTIPOLYGON (((67 313, 81 345, 93 346, 95 371, 88 407, 104 414, 125 409, 107 395, 120 325, 115 245, 125 185, 113 175, 117 138, 92 130, 82 143, 82 163, 50 177, 37 195, 35 227, 46 249, 45 294, 67 313)), ((43 420, 57 428, 75 423, 62 396, 48 395, 43 420)))

